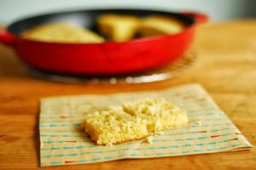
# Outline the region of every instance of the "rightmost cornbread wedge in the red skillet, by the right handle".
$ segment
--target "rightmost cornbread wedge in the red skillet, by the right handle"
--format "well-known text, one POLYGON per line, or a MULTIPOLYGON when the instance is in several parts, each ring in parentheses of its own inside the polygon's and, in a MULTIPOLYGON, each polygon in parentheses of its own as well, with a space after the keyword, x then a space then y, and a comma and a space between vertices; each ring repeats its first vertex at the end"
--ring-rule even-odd
POLYGON ((185 25, 182 21, 162 15, 151 15, 144 18, 138 28, 142 37, 175 34, 183 31, 185 25))

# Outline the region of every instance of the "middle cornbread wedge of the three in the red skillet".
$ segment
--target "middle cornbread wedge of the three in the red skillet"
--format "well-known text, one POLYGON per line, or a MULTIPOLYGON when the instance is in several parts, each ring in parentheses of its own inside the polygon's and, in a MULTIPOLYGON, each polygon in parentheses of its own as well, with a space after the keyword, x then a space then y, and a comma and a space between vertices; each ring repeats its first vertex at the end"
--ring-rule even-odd
POLYGON ((102 35, 113 42, 131 40, 139 26, 136 16, 125 14, 103 14, 97 20, 102 35))

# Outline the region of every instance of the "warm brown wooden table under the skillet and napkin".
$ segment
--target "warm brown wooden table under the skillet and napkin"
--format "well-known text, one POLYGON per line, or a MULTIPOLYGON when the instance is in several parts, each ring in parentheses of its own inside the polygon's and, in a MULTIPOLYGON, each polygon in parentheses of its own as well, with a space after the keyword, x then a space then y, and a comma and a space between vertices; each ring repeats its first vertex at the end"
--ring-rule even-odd
MULTIPOLYGON (((61 84, 29 77, 12 49, 0 46, 0 168, 39 167, 38 101, 63 94, 111 94, 169 88, 198 82, 241 132, 256 144, 256 20, 198 28, 193 68, 163 82, 145 84, 61 84)), ((240 169, 256 168, 256 151, 175 156, 43 169, 240 169)))

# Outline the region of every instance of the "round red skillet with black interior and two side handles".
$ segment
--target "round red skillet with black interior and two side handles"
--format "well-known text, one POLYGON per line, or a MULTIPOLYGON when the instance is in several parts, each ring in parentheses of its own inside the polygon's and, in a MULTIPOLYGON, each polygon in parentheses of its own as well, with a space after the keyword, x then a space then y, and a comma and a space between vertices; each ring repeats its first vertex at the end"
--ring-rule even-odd
POLYGON ((144 9, 93 9, 38 15, 11 24, 0 31, 0 42, 15 48, 27 65, 40 71, 68 75, 113 75, 147 71, 181 57, 195 35, 195 25, 205 14, 170 13, 144 9), (49 22, 72 22, 96 30, 101 14, 165 14, 182 20, 187 28, 176 35, 135 39, 127 42, 55 43, 30 41, 22 31, 49 22))

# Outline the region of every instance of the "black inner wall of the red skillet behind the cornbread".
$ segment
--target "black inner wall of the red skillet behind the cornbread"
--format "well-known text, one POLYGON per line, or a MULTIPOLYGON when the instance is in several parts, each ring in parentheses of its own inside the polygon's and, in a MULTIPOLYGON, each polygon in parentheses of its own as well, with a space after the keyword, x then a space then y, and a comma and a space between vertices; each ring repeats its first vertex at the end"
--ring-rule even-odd
POLYGON ((172 13, 167 11, 157 11, 148 9, 85 9, 76 11, 59 12, 52 14, 42 14, 38 16, 28 17, 23 20, 18 20, 8 27, 8 31, 19 36, 21 32, 32 29, 45 23, 52 22, 68 22, 77 26, 89 28, 92 31, 96 30, 96 19, 102 14, 133 14, 139 17, 148 16, 151 14, 162 14, 172 16, 178 20, 182 20, 187 26, 195 23, 195 20, 183 14, 172 13))

